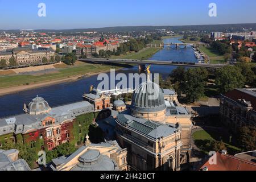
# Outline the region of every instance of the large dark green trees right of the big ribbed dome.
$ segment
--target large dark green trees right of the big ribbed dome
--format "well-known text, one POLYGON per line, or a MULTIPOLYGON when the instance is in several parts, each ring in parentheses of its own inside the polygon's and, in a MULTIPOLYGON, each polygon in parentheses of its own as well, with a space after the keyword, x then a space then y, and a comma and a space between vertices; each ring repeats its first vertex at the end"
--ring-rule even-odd
POLYGON ((177 67, 166 82, 170 80, 177 93, 180 96, 185 95, 185 101, 195 102, 205 95, 209 77, 213 77, 218 93, 243 88, 245 84, 256 86, 256 68, 245 63, 238 63, 236 66, 229 65, 216 71, 205 68, 177 67))

